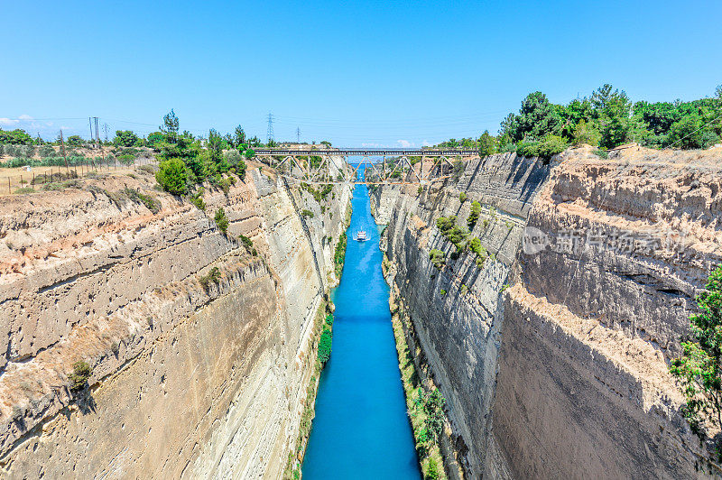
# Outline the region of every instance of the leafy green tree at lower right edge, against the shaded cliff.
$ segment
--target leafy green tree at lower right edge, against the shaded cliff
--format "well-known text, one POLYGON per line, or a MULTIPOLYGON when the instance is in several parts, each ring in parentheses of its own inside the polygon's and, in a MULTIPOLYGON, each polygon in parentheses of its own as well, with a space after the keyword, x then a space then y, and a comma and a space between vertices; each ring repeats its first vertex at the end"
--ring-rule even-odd
MULTIPOLYGON (((683 353, 671 361, 670 372, 686 398, 682 414, 703 438, 705 423, 722 428, 722 266, 709 275, 697 304, 700 312, 690 317, 693 339, 682 342, 683 353)), ((722 460, 719 445, 717 459, 722 460)))

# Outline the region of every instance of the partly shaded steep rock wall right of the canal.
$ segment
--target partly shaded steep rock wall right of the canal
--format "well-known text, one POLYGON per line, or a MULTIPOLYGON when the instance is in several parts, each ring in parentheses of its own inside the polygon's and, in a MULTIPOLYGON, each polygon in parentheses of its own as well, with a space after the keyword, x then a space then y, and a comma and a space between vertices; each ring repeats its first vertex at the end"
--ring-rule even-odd
POLYGON ((507 153, 421 193, 375 190, 393 301, 447 399, 467 477, 718 471, 680 416, 667 362, 722 261, 720 150, 507 153), (453 258, 435 226, 466 226, 473 200, 483 263, 453 258))

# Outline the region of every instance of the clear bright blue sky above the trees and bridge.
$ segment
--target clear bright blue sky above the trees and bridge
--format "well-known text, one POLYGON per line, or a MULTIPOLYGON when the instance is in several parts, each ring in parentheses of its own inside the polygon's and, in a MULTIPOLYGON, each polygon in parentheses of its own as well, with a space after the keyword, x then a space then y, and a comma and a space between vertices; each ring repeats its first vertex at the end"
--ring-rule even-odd
POLYGON ((88 136, 244 125, 368 146, 496 132, 534 90, 634 100, 722 84, 722 2, 0 0, 0 127, 88 136))

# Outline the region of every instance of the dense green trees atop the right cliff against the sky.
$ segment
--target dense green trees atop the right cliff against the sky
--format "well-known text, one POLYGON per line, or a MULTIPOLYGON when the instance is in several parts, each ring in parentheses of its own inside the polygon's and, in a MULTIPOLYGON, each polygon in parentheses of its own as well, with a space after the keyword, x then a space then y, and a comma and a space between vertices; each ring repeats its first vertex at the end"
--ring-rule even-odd
POLYGON ((705 149, 722 137, 722 86, 714 97, 690 102, 632 102, 624 90, 606 84, 589 97, 552 104, 542 92, 525 97, 518 113, 477 139, 450 139, 441 148, 477 149, 482 155, 517 152, 549 158, 587 143, 606 151, 636 142, 650 148, 705 149))

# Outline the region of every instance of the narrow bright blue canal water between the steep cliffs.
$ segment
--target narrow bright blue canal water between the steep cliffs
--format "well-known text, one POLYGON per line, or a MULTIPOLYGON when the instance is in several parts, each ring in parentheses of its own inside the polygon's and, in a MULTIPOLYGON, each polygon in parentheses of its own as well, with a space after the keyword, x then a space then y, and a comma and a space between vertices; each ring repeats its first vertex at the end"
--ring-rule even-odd
POLYGON ((321 373, 303 479, 421 478, 393 340, 383 255, 366 185, 357 185, 346 263, 332 293, 333 346, 321 373), (364 229, 369 239, 356 242, 364 229))

